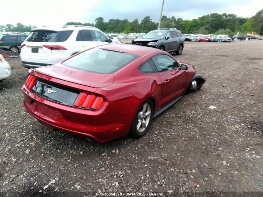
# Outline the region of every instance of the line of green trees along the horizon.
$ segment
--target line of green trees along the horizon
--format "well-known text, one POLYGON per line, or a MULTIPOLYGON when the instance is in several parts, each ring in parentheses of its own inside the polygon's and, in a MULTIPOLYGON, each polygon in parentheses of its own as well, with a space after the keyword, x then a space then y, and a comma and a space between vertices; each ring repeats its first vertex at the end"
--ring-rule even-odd
MULTIPOLYGON (((150 16, 145 16, 141 22, 136 18, 132 22, 127 19, 110 19, 104 21, 103 17, 95 19, 93 23, 67 22, 66 25, 85 25, 95 26, 106 33, 147 33, 158 28, 159 23, 153 22, 150 16)), ((163 15, 161 19, 161 28, 176 28, 182 33, 189 34, 247 34, 256 31, 257 34, 263 35, 263 9, 250 18, 238 17, 235 14, 218 14, 212 13, 193 20, 183 20, 182 18, 171 18, 163 15)), ((0 26, 0 31, 6 32, 29 32, 35 26, 24 26, 17 23, 16 27, 11 24, 0 26)))

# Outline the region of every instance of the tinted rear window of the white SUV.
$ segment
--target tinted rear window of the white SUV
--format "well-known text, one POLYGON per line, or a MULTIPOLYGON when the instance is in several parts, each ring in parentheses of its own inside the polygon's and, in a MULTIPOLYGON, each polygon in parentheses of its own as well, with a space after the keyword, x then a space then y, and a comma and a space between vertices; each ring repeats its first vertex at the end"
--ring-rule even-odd
POLYGON ((27 37, 27 42, 64 42, 68 40, 73 30, 66 31, 50 31, 36 30, 32 31, 27 37))

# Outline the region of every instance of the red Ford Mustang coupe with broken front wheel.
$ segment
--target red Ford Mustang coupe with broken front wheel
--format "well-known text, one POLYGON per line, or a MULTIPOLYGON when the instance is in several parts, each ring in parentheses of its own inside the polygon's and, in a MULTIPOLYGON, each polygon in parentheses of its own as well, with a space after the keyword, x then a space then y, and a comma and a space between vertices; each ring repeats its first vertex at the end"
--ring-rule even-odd
POLYGON ((106 142, 143 136, 153 117, 204 82, 165 51, 113 44, 30 69, 22 89, 26 111, 43 126, 106 142))

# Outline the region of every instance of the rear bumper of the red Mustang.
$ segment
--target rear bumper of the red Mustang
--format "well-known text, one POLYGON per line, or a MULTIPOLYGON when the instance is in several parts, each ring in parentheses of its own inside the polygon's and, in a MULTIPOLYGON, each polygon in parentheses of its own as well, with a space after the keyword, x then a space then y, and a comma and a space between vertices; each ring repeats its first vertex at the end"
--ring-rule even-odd
POLYGON ((25 85, 22 90, 26 111, 52 130, 57 128, 106 142, 127 135, 133 120, 133 112, 118 115, 107 106, 99 111, 79 109, 46 100, 25 85))

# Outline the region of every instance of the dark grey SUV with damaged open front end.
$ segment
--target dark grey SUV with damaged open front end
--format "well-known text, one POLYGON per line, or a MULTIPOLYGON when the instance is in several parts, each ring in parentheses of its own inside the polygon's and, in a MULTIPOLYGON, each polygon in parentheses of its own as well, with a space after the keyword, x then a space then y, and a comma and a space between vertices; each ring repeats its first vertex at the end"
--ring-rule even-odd
POLYGON ((133 40, 132 44, 154 47, 181 55, 185 45, 184 40, 181 32, 176 28, 162 28, 148 32, 143 38, 133 40))

